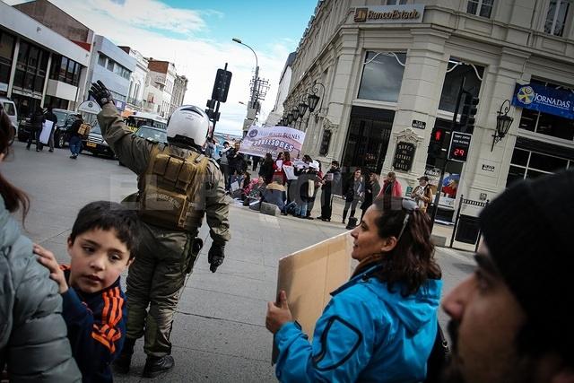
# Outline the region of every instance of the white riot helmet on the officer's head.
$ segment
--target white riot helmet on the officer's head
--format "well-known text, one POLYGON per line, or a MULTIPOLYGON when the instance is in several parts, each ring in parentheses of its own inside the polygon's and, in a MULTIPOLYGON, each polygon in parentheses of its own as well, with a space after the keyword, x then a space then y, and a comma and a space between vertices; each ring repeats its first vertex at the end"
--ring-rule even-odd
POLYGON ((203 146, 207 139, 209 118, 202 109, 193 105, 183 105, 175 109, 168 118, 168 138, 176 135, 194 140, 194 144, 203 146))

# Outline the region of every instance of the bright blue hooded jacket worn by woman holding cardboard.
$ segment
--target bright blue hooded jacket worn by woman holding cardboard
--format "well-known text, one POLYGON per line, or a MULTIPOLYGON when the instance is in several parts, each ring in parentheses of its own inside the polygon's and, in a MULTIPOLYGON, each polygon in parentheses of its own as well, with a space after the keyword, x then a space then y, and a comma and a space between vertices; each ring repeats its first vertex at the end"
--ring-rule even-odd
POLYGON ((420 382, 437 334, 442 281, 428 280, 404 298, 400 286, 370 276, 352 278, 331 295, 313 343, 299 324, 275 334, 275 374, 282 382, 420 382))

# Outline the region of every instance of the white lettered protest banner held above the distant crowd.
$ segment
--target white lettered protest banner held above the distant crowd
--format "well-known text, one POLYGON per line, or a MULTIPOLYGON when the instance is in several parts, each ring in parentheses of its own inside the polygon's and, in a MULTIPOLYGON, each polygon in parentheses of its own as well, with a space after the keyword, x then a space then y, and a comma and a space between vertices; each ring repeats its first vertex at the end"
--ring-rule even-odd
POLYGON ((273 158, 279 152, 291 153, 291 158, 300 156, 305 141, 305 132, 288 126, 251 126, 241 141, 239 152, 265 158, 270 152, 273 158))

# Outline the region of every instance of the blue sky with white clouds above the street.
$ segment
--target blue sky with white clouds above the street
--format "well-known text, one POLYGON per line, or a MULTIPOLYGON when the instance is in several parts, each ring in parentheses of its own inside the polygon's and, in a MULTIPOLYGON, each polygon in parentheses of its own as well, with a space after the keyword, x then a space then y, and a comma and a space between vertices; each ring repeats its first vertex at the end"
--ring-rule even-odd
MULTIPOLYGON (((233 74, 216 131, 240 134, 258 57, 259 76, 271 89, 261 118, 273 109, 279 76, 297 48, 317 0, 49 0, 97 34, 145 57, 169 60, 189 83, 185 102, 205 107, 217 68, 228 63, 233 74)), ((4 0, 7 4, 25 3, 4 0)))

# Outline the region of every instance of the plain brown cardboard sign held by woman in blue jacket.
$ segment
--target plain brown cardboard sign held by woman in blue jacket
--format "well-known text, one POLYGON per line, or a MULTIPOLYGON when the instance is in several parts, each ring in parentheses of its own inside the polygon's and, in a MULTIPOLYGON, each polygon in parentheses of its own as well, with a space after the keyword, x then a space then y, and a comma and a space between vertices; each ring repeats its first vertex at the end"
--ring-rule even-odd
MULTIPOLYGON (((293 320, 313 338, 315 322, 331 300, 331 292, 352 272, 352 237, 344 232, 279 260, 277 294, 284 290, 293 320)), ((274 347, 272 361, 276 361, 274 347)))

